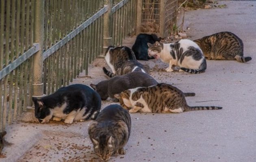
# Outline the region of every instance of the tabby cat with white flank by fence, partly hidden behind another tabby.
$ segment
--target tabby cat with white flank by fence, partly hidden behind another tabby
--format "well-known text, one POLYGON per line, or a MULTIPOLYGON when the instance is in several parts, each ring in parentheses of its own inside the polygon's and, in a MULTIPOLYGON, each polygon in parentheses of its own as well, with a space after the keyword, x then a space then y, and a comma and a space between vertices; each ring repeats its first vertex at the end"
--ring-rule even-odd
POLYGON ((136 60, 133 51, 126 46, 113 47, 106 49, 105 60, 112 72, 115 74, 127 60, 136 60))

